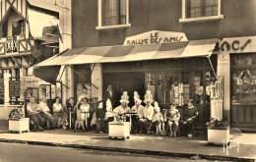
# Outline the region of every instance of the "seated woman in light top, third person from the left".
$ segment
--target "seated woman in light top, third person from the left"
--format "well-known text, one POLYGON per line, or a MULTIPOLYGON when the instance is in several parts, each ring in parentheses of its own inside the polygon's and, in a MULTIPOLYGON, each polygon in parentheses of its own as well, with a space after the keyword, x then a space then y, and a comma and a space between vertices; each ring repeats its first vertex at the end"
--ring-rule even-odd
POLYGON ((64 112, 64 109, 62 108, 62 105, 60 103, 60 97, 55 98, 55 103, 53 103, 52 108, 53 108, 54 116, 58 118, 57 127, 62 127, 63 129, 67 129, 66 128, 66 126, 68 125, 67 114, 66 112, 64 112))

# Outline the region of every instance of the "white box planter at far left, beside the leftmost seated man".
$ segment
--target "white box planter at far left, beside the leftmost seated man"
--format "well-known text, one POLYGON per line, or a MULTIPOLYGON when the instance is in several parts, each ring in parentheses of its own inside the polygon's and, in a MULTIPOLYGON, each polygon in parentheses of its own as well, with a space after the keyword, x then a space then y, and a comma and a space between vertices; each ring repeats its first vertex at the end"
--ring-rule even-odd
POLYGON ((30 133, 30 118, 9 119, 9 132, 30 133))

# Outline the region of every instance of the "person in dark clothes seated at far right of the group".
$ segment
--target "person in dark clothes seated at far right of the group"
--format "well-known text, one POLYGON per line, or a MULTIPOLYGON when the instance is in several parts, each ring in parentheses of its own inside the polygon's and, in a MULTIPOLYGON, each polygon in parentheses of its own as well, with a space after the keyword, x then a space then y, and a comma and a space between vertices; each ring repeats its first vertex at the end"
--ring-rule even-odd
POLYGON ((188 108, 185 109, 184 111, 184 122, 183 122, 183 124, 186 125, 188 137, 192 137, 192 127, 198 115, 199 115, 199 112, 197 108, 194 106, 194 100, 190 99, 188 102, 188 108))

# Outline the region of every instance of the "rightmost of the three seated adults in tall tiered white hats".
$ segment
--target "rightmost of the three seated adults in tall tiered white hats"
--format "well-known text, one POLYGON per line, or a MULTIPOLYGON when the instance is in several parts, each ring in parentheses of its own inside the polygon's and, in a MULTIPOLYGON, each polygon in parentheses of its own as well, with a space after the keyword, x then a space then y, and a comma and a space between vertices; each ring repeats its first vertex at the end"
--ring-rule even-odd
POLYGON ((147 104, 143 109, 143 116, 140 118, 140 133, 146 129, 147 133, 150 134, 152 127, 152 119, 154 115, 154 107, 152 103, 154 102, 153 95, 151 94, 151 90, 147 90, 144 102, 147 104))

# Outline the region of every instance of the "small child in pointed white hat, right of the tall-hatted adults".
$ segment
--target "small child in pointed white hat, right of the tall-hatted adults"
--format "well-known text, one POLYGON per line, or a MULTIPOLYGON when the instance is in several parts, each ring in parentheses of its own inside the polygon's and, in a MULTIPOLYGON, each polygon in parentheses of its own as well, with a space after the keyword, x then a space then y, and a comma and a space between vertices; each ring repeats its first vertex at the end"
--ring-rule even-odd
POLYGON ((155 101, 155 114, 153 116, 152 121, 156 123, 157 135, 160 135, 163 117, 162 114, 160 113, 160 106, 157 101, 155 101))

